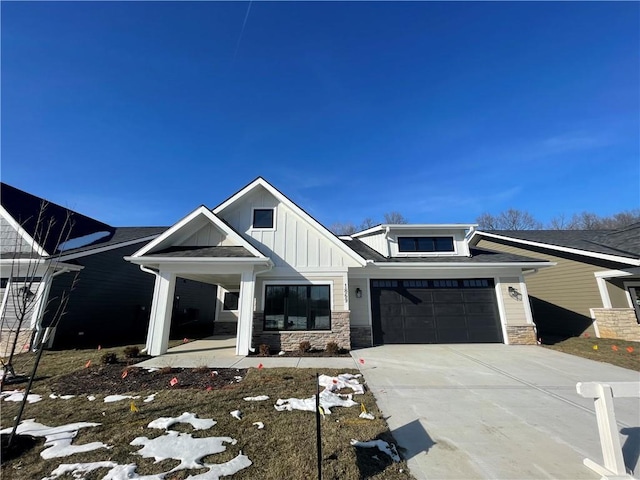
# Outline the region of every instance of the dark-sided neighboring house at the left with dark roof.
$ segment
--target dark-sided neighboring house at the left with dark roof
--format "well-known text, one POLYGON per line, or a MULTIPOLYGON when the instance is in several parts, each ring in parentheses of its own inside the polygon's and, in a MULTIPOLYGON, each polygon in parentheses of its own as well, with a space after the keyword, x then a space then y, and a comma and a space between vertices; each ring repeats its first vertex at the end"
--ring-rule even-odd
POLYGON ((16 292, 29 285, 34 302, 18 339, 22 351, 38 325, 49 325, 73 272, 79 272, 78 282, 49 345, 144 339, 153 280, 123 257, 166 227, 112 227, 5 183, 0 198, 0 355, 16 331, 16 292))

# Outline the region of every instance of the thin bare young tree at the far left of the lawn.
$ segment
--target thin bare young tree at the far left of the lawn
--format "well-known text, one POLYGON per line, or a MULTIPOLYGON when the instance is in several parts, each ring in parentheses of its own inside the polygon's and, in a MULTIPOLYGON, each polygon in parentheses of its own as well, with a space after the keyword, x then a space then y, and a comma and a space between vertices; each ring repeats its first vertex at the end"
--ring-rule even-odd
MULTIPOLYGON (((51 216, 47 217, 48 203, 42 202, 35 218, 28 218, 20 223, 23 228, 27 223, 33 226, 33 233, 30 235, 32 242, 27 244, 22 237, 15 232, 13 235, 13 251, 5 252, 11 256, 10 276, 7 281, 6 288, 7 301, 5 308, 2 310, 2 318, 0 319, 0 328, 3 336, 7 336, 8 342, 8 359, 2 361, 2 377, 1 388, 11 379, 19 377, 15 373, 14 358, 18 353, 24 351, 23 344, 29 346, 31 351, 35 352, 35 359, 29 376, 27 388, 23 393, 23 400, 20 405, 18 415, 15 417, 13 429, 9 436, 8 446, 11 446, 13 438, 24 411, 27 397, 33 384, 38 365, 42 358, 42 352, 48 341, 49 332, 54 329, 61 318, 64 316, 69 295, 76 285, 77 273, 71 282, 71 287, 63 291, 58 298, 49 298, 49 287, 53 282, 56 273, 64 271, 62 262, 60 261, 60 252, 58 246, 66 242, 73 228, 73 220, 71 213, 67 212, 63 224, 60 228, 54 228, 56 219, 51 216), (54 233, 57 232, 57 233, 54 233), (51 238, 56 236, 56 238, 51 238), (49 256, 40 255, 39 247, 44 245, 55 245, 54 253, 49 256), (47 312, 47 308, 53 306, 53 311, 47 312), (10 307, 10 308, 9 308, 10 307), (43 327, 43 318, 45 313, 49 315, 49 325, 43 327), (31 325, 35 326, 35 331, 31 334, 31 325), (29 327, 29 328, 27 328, 29 327), (29 334, 25 336, 24 333, 29 334), (30 340, 28 340, 30 338, 30 340), (26 343, 25 343, 26 342, 26 343)), ((25 352, 26 354, 26 352, 25 352)), ((24 378, 24 376, 21 376, 24 378)))

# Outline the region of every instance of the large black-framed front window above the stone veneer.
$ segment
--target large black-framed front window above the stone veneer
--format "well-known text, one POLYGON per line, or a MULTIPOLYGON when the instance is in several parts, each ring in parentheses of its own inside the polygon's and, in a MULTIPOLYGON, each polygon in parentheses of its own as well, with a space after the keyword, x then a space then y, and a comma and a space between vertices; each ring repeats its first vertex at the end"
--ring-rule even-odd
POLYGON ((266 285, 265 330, 331 330, 329 285, 266 285))

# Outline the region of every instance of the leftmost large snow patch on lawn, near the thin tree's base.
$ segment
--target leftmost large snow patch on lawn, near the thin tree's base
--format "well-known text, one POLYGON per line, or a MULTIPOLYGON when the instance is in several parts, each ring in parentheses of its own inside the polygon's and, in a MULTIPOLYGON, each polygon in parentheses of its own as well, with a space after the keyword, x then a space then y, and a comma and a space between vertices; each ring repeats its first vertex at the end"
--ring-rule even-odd
MULTIPOLYGON (((78 434, 78 430, 85 427, 97 427, 99 423, 78 422, 59 427, 47 427, 36 423, 33 419, 25 420, 18 425, 16 433, 19 435, 31 435, 33 437, 45 437, 45 449, 40 456, 45 460, 57 457, 66 457, 74 453, 90 452, 99 448, 111 448, 102 442, 85 443, 84 445, 71 445, 78 434)), ((0 430, 0 433, 9 433, 11 428, 0 430)))

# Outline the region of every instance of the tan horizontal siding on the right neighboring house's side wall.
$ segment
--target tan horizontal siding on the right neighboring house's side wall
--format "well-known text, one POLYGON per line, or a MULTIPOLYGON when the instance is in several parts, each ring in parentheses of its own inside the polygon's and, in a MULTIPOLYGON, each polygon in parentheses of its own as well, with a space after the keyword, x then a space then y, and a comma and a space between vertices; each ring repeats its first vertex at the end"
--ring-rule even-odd
POLYGON ((613 269, 615 264, 572 254, 564 256, 562 252, 551 254, 539 248, 525 249, 495 239, 481 238, 478 247, 555 262, 555 266, 525 277, 538 330, 569 335, 579 335, 587 329, 593 332, 589 309, 603 307, 594 273, 613 269))

